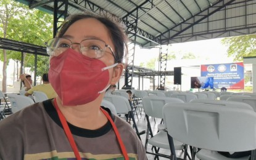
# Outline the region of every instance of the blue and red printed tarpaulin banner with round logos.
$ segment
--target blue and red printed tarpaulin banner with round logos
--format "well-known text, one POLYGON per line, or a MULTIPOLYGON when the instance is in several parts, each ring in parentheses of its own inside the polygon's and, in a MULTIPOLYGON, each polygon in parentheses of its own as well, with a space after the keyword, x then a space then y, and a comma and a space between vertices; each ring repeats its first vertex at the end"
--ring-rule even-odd
POLYGON ((244 63, 201 65, 201 76, 213 77, 216 89, 244 89, 244 63))

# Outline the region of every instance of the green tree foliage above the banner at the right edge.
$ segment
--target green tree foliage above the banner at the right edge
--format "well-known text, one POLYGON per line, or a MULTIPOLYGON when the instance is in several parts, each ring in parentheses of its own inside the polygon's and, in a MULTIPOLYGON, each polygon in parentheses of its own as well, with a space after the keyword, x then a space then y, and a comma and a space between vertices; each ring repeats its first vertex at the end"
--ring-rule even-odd
POLYGON ((228 56, 234 57, 234 61, 256 55, 256 34, 224 38, 221 43, 228 46, 228 56))

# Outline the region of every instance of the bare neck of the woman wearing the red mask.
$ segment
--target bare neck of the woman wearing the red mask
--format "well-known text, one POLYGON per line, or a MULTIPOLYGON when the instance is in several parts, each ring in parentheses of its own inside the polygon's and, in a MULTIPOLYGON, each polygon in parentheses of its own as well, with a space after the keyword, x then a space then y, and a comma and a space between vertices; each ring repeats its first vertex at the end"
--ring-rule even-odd
POLYGON ((65 119, 76 127, 84 129, 99 129, 107 123, 107 118, 99 109, 104 94, 99 95, 93 102, 85 105, 63 106, 59 97, 57 97, 57 105, 64 115, 65 119))

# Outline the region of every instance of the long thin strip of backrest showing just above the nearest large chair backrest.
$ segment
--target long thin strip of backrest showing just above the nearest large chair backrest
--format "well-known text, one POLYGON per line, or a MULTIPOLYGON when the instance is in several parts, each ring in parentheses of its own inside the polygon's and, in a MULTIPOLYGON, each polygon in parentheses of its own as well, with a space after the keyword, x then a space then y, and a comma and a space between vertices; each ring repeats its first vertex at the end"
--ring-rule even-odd
POLYGON ((254 108, 252 108, 252 106, 248 105, 247 103, 243 103, 243 102, 232 102, 232 101, 226 101, 226 100, 191 100, 191 103, 222 105, 222 106, 242 108, 242 109, 254 111, 254 108))

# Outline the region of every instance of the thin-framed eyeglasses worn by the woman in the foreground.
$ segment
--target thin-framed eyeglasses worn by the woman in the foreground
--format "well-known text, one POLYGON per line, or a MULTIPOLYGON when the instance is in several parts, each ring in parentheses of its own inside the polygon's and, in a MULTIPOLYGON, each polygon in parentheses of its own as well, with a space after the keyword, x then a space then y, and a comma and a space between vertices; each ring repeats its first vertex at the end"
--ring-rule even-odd
POLYGON ((46 45, 47 54, 54 57, 57 57, 65 52, 65 50, 72 48, 73 44, 77 44, 80 46, 81 54, 90 58, 101 58, 105 54, 105 50, 108 47, 114 56, 115 61, 117 60, 112 48, 100 39, 84 39, 80 43, 75 43, 67 38, 52 38, 44 44, 46 45))

